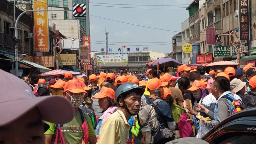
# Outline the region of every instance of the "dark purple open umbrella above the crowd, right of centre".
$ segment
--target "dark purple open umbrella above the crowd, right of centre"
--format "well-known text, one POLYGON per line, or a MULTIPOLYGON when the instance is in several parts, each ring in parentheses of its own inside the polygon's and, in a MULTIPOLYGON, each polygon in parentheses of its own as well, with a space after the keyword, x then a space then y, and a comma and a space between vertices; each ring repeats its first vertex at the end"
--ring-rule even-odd
POLYGON ((151 66, 152 67, 157 67, 157 62, 159 61, 159 68, 168 68, 168 67, 176 67, 178 65, 182 65, 182 63, 178 60, 171 59, 171 58, 162 58, 155 60, 151 66))

